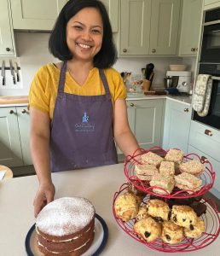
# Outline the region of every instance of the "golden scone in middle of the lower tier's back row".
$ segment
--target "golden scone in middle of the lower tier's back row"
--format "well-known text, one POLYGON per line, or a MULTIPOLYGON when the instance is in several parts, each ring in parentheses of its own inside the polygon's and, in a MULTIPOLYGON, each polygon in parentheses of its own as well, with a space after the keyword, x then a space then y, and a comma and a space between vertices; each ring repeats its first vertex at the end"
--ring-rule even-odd
POLYGON ((159 199, 152 199, 148 201, 148 214, 158 220, 168 220, 170 208, 165 201, 159 199))

